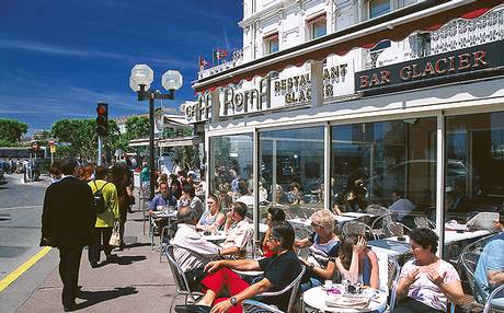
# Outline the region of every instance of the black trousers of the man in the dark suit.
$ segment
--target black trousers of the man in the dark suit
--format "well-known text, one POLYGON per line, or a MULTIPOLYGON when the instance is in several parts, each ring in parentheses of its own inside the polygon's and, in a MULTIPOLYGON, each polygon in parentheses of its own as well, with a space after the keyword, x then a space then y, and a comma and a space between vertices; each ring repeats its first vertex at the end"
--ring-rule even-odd
POLYGON ((64 283, 61 302, 67 308, 71 306, 76 301, 81 256, 82 246, 59 248, 59 276, 64 283))

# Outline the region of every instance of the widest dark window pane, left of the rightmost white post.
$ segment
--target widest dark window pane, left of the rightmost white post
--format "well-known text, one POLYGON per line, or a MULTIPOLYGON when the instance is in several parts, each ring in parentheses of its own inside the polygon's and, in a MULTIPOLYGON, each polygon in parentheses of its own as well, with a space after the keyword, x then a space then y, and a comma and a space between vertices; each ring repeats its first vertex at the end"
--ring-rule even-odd
POLYGON ((331 135, 331 209, 370 212, 376 234, 393 236, 436 217, 436 118, 341 125, 331 135), (398 222, 396 232, 379 218, 398 222), (374 220, 376 221, 374 224, 374 220))

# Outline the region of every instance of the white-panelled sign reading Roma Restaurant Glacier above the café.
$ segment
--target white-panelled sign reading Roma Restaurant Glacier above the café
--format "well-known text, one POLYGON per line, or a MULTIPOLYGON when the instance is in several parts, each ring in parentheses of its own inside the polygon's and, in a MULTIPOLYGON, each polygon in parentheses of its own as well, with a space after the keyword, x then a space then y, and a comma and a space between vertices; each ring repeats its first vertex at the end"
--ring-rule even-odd
MULTIPOLYGON (((322 92, 324 100, 341 95, 345 89, 337 84, 345 83, 348 69, 346 63, 323 68, 322 92)), ((352 82, 348 82, 352 84, 352 82)), ((352 91, 353 92, 353 91, 352 91)), ((220 104, 220 116, 263 112, 265 109, 306 104, 311 101, 311 76, 308 72, 279 77, 267 74, 252 88, 229 85, 214 95, 209 92, 201 94, 196 103, 181 107, 187 120, 202 121, 215 113, 211 109, 215 97, 220 104), (214 96, 214 97, 213 97, 214 96)))

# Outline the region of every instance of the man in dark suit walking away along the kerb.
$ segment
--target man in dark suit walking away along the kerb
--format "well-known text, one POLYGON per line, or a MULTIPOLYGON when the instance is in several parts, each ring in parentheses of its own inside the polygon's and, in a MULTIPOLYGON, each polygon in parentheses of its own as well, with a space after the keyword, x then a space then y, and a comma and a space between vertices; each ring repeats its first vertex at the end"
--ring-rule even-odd
POLYGON ((91 188, 78 176, 75 159, 61 161, 61 181, 46 189, 42 213, 41 245, 59 248, 59 275, 64 283, 65 312, 76 309, 77 283, 82 248, 92 242, 96 220, 91 188))

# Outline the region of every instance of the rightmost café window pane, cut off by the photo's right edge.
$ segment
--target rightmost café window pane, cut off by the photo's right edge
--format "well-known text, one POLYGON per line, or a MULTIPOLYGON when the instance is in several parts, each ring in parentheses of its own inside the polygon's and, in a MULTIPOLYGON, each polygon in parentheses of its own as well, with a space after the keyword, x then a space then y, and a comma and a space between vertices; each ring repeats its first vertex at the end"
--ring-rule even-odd
POLYGON ((472 270, 504 213, 504 112, 446 117, 445 128, 444 258, 472 270))

